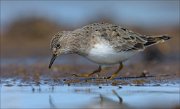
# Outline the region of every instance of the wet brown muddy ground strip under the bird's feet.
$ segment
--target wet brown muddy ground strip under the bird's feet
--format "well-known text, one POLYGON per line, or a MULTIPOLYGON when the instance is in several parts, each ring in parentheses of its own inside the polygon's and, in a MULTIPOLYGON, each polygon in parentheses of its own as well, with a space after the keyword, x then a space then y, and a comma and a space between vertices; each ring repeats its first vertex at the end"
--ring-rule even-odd
POLYGON ((83 74, 97 69, 96 65, 67 65, 55 64, 52 69, 48 69, 48 64, 8 64, 1 67, 1 78, 13 78, 24 82, 36 82, 41 84, 41 80, 54 82, 55 84, 74 84, 74 83, 92 83, 92 84, 112 84, 112 85, 144 85, 147 83, 167 83, 177 82, 180 78, 179 62, 171 63, 125 63, 124 69, 114 80, 106 79, 117 69, 116 66, 105 67, 101 73, 94 74, 91 77, 75 77, 73 74, 83 74))

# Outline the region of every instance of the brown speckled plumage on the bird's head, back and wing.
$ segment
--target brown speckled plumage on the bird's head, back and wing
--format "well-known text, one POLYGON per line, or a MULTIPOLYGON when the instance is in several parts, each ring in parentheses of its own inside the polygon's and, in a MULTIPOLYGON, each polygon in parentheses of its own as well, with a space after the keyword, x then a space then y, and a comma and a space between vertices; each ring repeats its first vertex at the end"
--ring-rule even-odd
POLYGON ((61 47, 66 49, 65 53, 87 55, 98 41, 107 41, 117 52, 143 50, 148 39, 154 40, 154 43, 160 41, 157 37, 144 36, 114 24, 94 23, 74 31, 57 33, 51 41, 51 49, 59 39, 61 47))

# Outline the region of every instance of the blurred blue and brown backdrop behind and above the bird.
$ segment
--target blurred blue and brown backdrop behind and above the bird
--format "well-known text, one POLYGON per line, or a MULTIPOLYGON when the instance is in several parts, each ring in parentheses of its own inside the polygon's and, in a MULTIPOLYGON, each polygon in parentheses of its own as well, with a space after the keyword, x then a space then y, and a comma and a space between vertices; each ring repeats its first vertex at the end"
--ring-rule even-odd
POLYGON ((121 25, 145 35, 169 34, 171 40, 140 55, 145 61, 176 61, 180 59, 179 8, 179 0, 1 1, 1 61, 48 60, 50 40, 56 32, 94 22, 121 25))

